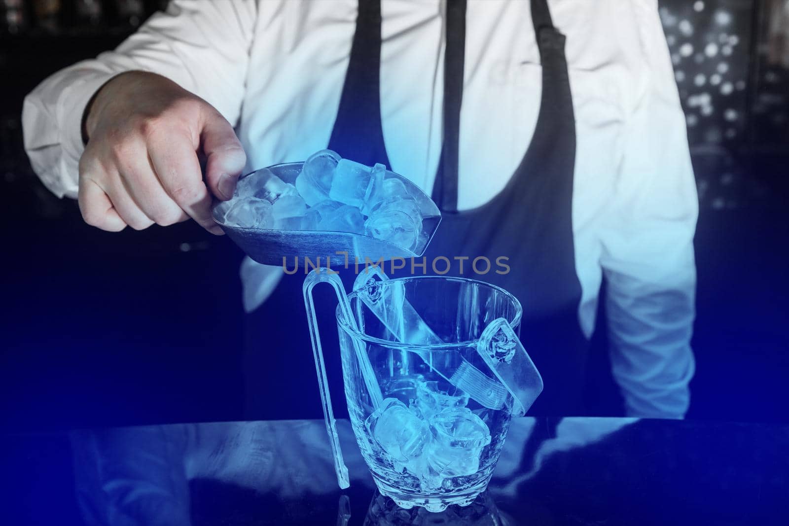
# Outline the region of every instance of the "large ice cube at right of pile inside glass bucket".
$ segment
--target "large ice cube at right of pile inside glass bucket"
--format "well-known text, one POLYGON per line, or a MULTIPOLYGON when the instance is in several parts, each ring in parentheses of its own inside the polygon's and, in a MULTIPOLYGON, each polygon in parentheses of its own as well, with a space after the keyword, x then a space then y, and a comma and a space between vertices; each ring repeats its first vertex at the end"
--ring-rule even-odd
POLYGON ((422 478, 428 485, 437 476, 473 475, 480 468, 482 450, 491 442, 488 426, 466 407, 443 409, 430 420, 435 438, 424 449, 422 478))

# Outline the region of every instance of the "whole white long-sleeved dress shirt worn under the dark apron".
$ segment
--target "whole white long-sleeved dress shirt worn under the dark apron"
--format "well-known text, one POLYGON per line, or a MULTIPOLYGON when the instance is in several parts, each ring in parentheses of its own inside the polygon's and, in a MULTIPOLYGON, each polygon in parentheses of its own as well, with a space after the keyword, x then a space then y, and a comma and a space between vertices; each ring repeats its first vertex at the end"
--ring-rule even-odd
MULTIPOLYGON (((444 2, 382 6, 383 138, 392 170, 426 192, 441 149, 444 2)), ((567 35, 577 128, 579 322, 592 333, 605 275, 611 362, 628 413, 681 417, 694 372, 697 196, 656 4, 549 2, 567 35)), ((328 143, 356 14, 357 0, 173 0, 117 50, 55 73, 28 95, 32 166, 55 194, 77 196, 84 107, 128 69, 167 76, 215 106, 236 127, 250 170, 303 160, 328 143)), ((507 183, 531 140, 541 89, 529 2, 469 0, 466 21, 461 210, 507 183)), ((261 273, 272 282, 271 270, 261 273)))

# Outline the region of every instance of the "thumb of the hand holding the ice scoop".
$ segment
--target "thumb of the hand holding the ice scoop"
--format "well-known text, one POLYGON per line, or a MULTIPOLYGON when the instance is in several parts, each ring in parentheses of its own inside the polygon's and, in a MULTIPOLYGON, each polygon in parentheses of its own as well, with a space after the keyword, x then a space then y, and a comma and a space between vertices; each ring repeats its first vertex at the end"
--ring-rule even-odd
POLYGON ((244 148, 230 122, 215 110, 204 121, 200 142, 206 156, 205 179, 208 188, 220 200, 229 200, 233 197, 236 181, 246 164, 244 148))

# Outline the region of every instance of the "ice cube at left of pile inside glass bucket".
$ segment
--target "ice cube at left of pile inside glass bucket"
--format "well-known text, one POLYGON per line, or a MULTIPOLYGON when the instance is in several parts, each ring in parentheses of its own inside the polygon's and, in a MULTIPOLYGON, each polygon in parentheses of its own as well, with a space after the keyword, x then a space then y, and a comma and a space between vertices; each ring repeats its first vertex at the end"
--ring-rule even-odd
POLYGON ((385 398, 365 420, 369 435, 393 461, 416 472, 424 446, 431 441, 430 428, 397 398, 385 398))

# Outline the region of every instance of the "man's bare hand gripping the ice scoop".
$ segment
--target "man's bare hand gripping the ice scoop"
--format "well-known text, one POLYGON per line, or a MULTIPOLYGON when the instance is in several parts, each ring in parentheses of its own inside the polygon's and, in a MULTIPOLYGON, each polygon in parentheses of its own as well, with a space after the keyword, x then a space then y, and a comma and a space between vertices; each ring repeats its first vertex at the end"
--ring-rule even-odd
POLYGON ((86 111, 79 182, 85 222, 117 232, 193 218, 222 233, 211 218, 211 194, 233 196, 246 156, 213 106, 163 76, 132 71, 104 84, 86 111))

